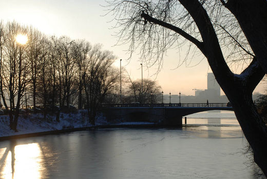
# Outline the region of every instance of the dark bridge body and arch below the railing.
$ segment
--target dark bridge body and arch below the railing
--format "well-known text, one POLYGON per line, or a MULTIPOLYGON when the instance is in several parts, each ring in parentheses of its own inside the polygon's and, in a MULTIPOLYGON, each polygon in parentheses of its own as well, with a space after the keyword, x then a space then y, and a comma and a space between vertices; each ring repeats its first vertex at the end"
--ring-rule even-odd
POLYGON ((165 126, 182 126, 182 117, 212 110, 233 111, 231 107, 128 107, 105 108, 103 114, 108 122, 146 121, 165 126))

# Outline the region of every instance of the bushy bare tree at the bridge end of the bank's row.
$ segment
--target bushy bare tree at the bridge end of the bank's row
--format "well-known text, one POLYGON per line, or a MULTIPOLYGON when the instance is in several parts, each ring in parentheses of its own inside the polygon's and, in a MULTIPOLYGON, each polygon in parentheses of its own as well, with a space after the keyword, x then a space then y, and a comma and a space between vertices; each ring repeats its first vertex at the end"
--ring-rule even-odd
POLYGON ((115 56, 110 51, 102 51, 101 45, 93 46, 87 60, 89 66, 84 67, 86 71, 83 76, 83 84, 89 121, 94 124, 101 102, 105 95, 118 84, 120 74, 118 70, 115 71, 111 67, 115 56))

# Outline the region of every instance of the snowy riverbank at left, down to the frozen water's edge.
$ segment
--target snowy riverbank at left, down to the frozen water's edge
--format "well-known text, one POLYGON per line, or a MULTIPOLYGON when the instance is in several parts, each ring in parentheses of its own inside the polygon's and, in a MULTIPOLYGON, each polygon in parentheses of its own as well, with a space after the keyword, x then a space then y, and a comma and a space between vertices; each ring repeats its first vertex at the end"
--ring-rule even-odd
POLYGON ((83 131, 94 128, 125 128, 125 127, 157 127, 151 122, 118 122, 108 123, 103 116, 96 119, 96 125, 92 126, 88 122, 86 111, 78 113, 61 113, 60 122, 52 114, 24 114, 18 118, 17 130, 9 129, 9 116, 0 116, 0 140, 10 140, 16 138, 26 138, 40 135, 59 134, 65 132, 83 131))

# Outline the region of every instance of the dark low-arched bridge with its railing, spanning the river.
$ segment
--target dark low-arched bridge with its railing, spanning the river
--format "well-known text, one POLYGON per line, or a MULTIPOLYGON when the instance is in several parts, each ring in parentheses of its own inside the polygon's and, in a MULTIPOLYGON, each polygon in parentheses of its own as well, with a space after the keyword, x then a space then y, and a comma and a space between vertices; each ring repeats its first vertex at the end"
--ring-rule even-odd
POLYGON ((107 121, 147 121, 165 126, 182 126, 182 117, 203 111, 233 111, 227 103, 131 103, 102 104, 107 121))

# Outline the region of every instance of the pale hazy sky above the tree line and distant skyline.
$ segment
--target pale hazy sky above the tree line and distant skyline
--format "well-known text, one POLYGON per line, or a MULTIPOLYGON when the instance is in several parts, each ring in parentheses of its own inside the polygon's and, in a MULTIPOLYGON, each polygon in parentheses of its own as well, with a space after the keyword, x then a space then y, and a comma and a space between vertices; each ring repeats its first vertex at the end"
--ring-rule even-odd
MULTIPOLYGON (((60 37, 66 35, 71 39, 85 39, 91 44, 103 44, 103 49, 111 50, 122 59, 122 66, 133 79, 141 79, 141 65, 138 55, 134 55, 129 63, 124 59, 127 46, 113 46, 116 38, 112 36, 115 29, 111 29, 110 16, 103 16, 106 12, 105 1, 92 0, 0 0, 0 19, 32 25, 48 35, 60 37)), ((186 47, 185 47, 186 48, 186 47)), ((137 52, 138 53, 138 52, 137 52)), ((193 88, 207 88, 207 73, 212 72, 206 59, 197 56, 176 68, 179 55, 176 49, 169 50, 164 57, 163 69, 157 76, 157 81, 164 94, 194 95, 193 88), (189 63, 191 61, 191 63, 189 63), (198 64, 198 65, 197 65, 198 64)), ((147 70, 143 66, 143 78, 155 79, 155 67, 147 70)), ((264 93, 264 86, 258 85, 255 92, 264 93)))

